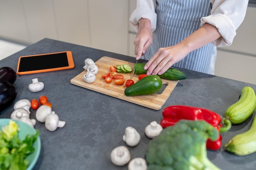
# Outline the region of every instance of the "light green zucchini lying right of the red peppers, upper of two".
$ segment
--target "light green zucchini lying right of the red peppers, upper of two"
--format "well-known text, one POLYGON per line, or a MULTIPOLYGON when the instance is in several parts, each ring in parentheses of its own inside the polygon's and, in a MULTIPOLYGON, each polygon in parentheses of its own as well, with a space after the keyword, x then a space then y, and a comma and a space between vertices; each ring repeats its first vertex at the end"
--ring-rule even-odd
POLYGON ((229 106, 225 111, 225 117, 231 121, 231 124, 240 124, 254 113, 255 108, 255 92, 251 87, 245 86, 241 91, 238 102, 229 106))

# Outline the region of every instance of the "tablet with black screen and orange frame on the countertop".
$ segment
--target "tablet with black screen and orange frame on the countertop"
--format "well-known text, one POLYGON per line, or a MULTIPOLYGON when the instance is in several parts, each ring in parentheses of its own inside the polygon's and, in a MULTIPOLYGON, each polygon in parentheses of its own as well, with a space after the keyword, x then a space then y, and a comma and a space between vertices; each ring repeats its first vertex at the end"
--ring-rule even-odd
POLYGON ((74 68, 71 51, 19 57, 17 74, 33 74, 74 68))

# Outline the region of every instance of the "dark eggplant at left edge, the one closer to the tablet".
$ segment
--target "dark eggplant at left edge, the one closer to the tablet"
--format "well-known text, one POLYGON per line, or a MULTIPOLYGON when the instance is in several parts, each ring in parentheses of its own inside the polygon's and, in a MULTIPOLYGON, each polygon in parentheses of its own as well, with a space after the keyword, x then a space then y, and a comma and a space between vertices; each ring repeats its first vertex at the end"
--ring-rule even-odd
POLYGON ((16 81, 17 74, 10 67, 1 67, 0 68, 0 81, 7 81, 13 84, 16 81))

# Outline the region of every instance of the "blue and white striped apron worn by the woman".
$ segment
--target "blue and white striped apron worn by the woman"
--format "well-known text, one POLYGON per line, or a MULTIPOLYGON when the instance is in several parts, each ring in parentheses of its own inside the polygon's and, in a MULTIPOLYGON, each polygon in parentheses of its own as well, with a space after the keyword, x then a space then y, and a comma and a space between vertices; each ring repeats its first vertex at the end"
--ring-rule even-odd
MULTIPOLYGON (((159 48, 173 46, 200 28, 200 18, 210 15, 210 0, 157 0, 157 29, 153 44, 141 58, 149 60, 159 48)), ((216 46, 209 43, 192 51, 173 66, 214 74, 216 46)))

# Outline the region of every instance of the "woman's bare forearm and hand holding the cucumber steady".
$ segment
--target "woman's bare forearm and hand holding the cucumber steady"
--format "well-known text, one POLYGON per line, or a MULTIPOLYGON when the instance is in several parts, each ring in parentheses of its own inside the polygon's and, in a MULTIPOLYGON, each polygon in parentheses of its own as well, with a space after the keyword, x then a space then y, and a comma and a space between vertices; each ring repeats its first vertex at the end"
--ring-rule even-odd
POLYGON ((191 51, 213 42, 220 37, 221 35, 218 32, 218 29, 215 26, 206 23, 180 43, 174 46, 160 48, 157 53, 148 60, 144 69, 148 69, 147 75, 161 75, 173 64, 186 57, 191 51))

